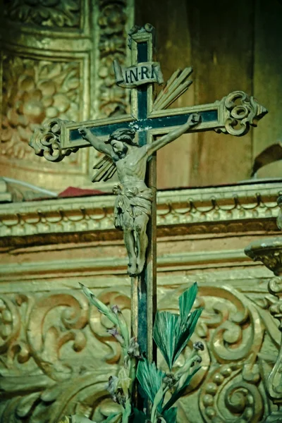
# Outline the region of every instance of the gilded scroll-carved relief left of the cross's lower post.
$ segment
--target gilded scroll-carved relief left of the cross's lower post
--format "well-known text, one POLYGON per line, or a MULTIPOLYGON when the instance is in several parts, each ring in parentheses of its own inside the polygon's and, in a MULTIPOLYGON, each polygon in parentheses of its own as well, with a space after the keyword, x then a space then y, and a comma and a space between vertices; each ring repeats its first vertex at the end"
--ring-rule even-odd
MULTIPOLYGON (((122 293, 102 296, 128 306, 122 293)), ((63 414, 75 414, 75 408, 91 417, 100 407, 107 396, 107 374, 115 370, 109 366, 101 370, 102 359, 97 366, 103 340, 97 336, 93 342, 90 321, 94 331, 99 322, 88 307, 85 296, 76 292, 1 298, 1 422, 56 423, 63 414)), ((109 322, 101 325, 106 331, 109 322)), ((105 351, 102 348, 103 357, 105 351)), ((118 355, 111 360, 116 361, 118 355)))

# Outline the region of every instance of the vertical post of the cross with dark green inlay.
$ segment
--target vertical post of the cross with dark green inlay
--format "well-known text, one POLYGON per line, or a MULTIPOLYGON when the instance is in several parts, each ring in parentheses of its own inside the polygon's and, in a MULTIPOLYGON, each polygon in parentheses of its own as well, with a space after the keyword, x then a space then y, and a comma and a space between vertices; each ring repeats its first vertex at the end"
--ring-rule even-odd
MULTIPOLYGON (((147 63, 153 60, 154 28, 147 24, 146 30, 130 34, 131 63, 147 63), (149 31, 148 31, 149 30, 149 31)), ((152 84, 140 85, 131 90, 131 111, 137 121, 146 121, 152 111, 152 84)), ((152 142, 148 131, 136 124, 140 146, 152 142)), ((142 273, 131 278, 133 336, 137 337, 140 351, 152 361, 156 360, 156 348, 153 342, 154 314, 157 308, 157 216, 156 216, 156 154, 149 161, 146 173, 146 185, 152 189, 152 214, 147 226, 148 247, 146 264, 142 273)))

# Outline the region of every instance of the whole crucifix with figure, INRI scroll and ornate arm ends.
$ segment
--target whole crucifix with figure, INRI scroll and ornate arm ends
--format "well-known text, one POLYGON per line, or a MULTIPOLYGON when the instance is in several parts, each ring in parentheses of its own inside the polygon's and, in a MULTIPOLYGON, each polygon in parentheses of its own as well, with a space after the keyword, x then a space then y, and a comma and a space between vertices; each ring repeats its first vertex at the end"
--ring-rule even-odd
POLYGON ((192 68, 178 69, 153 99, 154 82, 163 82, 159 63, 153 61, 154 27, 133 27, 129 46, 130 68, 114 62, 114 70, 116 83, 130 89, 130 114, 83 123, 49 119, 35 131, 30 146, 49 161, 61 161, 92 145, 104 154, 94 166, 92 181, 109 180, 117 171, 114 223, 123 230, 128 251, 131 329, 140 351, 152 361, 157 306, 156 152, 192 131, 245 135, 267 111, 243 91, 231 92, 212 104, 166 110, 188 90, 192 68))

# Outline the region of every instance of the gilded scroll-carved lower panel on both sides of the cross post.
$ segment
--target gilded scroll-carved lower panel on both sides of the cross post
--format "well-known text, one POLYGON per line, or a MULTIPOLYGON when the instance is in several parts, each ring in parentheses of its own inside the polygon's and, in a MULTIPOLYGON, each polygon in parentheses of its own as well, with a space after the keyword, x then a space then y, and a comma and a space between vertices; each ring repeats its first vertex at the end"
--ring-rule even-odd
MULTIPOLYGON (((159 309, 176 308, 173 301, 184 289, 166 287, 159 309)), ((117 304, 125 317, 130 316, 127 287, 103 290, 99 299, 117 304)), ((118 343, 107 333, 110 322, 71 290, 5 295, 0 305, 2 321, 11 334, 5 347, 1 343, 5 351, 0 364, 4 376, 0 378, 1 422, 56 423, 61 415, 75 412, 96 421, 107 417, 111 407, 104 385, 109 374, 116 372, 120 356, 118 343), (11 314, 4 314, 7 309, 11 314)), ((185 410, 183 422, 261 421, 266 405, 258 357, 267 329, 255 303, 227 286, 203 286, 195 307, 202 306, 204 312, 190 343, 200 339, 206 348, 202 369, 180 402, 185 410), (191 417, 192 396, 197 396, 200 411, 194 410, 191 417)), ((190 343, 176 366, 189 354, 190 343)))

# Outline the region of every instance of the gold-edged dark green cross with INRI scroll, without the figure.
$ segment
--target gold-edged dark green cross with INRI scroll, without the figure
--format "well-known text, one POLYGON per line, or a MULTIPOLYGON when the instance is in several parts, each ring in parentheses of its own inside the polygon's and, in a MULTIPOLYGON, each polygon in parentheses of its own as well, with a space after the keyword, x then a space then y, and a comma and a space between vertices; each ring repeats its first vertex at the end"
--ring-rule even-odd
MULTIPOLYGON (((121 70, 116 64, 116 76, 119 73, 121 80, 118 83, 121 86, 131 88, 130 114, 83 122, 84 127, 90 128, 97 137, 109 137, 118 128, 133 128, 137 131, 141 146, 152 142, 154 137, 164 135, 173 128, 183 125, 190 114, 195 113, 201 116, 201 123, 197 125, 195 131, 216 130, 240 136, 248 132, 250 125, 256 126, 259 118, 267 113, 253 97, 247 96, 242 91, 232 92, 212 104, 166 110, 188 89, 191 83, 188 76, 192 68, 176 71, 153 102, 152 82, 158 80, 158 76, 161 80, 159 65, 152 61, 154 28, 149 24, 142 28, 134 27, 130 31, 129 42, 131 67, 121 70)), ((82 123, 50 119, 37 130, 30 145, 35 149, 35 154, 44 156, 49 161, 61 161, 63 157, 76 152, 79 148, 90 146, 78 131, 81 125, 82 123)), ((133 335, 137 336, 140 344, 140 350, 147 354, 149 360, 153 360, 155 352, 152 329, 157 305, 156 155, 149 161, 146 183, 152 188, 154 200, 148 226, 149 246, 145 270, 139 276, 131 278, 131 325, 133 335)))

